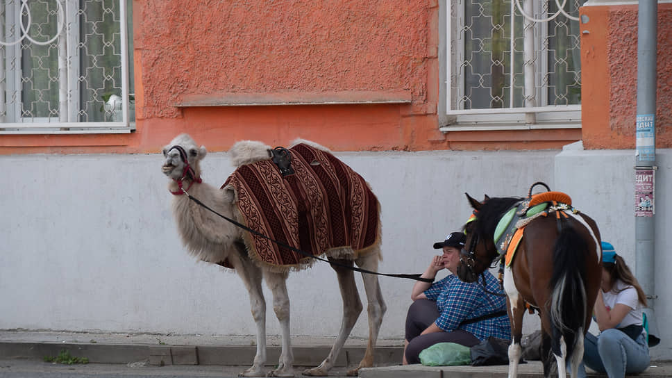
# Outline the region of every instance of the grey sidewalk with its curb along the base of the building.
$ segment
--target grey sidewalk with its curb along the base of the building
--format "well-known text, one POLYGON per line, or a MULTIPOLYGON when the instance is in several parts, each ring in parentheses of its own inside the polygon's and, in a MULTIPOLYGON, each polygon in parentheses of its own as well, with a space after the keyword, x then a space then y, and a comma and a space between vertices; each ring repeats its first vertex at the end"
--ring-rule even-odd
MULTIPOLYGON (((268 365, 280 355, 280 339, 268 338, 268 365)), ((333 338, 292 338, 295 365, 317 366, 328 354, 333 338)), ((353 368, 364 356, 366 340, 348 340, 335 361, 335 370, 353 368)), ((148 363, 149 365, 240 365, 253 361, 256 347, 251 336, 160 334, 87 334, 53 331, 0 331, 0 359, 44 359, 68 350, 90 363, 148 363)), ((507 366, 398 365, 403 346, 399 340, 378 340, 376 368, 360 371, 366 378, 473 378, 507 377, 507 366)), ((639 378, 672 377, 672 361, 655 361, 639 378)), ((301 371, 301 370, 299 370, 301 371)), ((520 365, 519 377, 543 377, 539 361, 520 365)), ((337 374, 342 375, 342 374, 337 374)), ((589 375, 589 377, 603 377, 589 375)))

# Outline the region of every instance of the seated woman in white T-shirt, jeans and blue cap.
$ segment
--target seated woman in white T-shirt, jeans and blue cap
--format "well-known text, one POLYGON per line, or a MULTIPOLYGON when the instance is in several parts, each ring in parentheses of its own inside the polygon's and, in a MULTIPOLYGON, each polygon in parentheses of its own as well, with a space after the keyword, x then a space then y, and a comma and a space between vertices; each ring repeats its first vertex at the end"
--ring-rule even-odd
MULTIPOLYGON (((600 334, 586 334, 583 362, 610 378, 643 372, 650 361, 641 311, 646 295, 623 258, 606 242, 602 242, 602 267, 602 290, 595 302, 600 334)), ((583 364, 578 375, 586 376, 583 364)))

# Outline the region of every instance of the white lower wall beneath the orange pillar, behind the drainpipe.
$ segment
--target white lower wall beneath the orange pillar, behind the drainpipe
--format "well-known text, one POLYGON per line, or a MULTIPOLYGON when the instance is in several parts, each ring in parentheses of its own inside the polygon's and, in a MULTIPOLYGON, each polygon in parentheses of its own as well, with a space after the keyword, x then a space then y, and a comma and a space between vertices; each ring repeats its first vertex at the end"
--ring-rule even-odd
MULTIPOLYGON (((655 318, 662 341, 650 350, 653 359, 672 359, 672 150, 657 149, 655 176, 655 318)), ((600 227, 602 240, 614 245, 633 273, 635 256, 635 151, 584 151, 580 142, 566 146, 555 157, 557 190, 572 196, 573 206, 590 215, 600 227)), ((641 278, 640 278, 641 279, 641 278)), ((651 294, 651 293, 647 293, 651 294)))

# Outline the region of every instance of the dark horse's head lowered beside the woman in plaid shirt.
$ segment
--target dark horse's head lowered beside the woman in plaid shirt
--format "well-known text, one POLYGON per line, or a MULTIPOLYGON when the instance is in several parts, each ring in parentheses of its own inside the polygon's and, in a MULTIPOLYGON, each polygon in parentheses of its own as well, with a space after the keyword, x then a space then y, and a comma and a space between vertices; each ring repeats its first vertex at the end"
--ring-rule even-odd
MULTIPOLYGON (((466 194, 466 193, 465 193, 466 194)), ((464 282, 474 282, 478 276, 489 268, 494 256, 492 251, 496 248, 492 238, 487 238, 482 229, 482 221, 478 218, 480 208, 489 200, 486 195, 482 202, 473 199, 467 194, 469 204, 473 208, 473 215, 464 224, 464 233, 467 235, 467 241, 464 243, 464 249, 460 251, 460 265, 457 265, 457 277, 464 282)))

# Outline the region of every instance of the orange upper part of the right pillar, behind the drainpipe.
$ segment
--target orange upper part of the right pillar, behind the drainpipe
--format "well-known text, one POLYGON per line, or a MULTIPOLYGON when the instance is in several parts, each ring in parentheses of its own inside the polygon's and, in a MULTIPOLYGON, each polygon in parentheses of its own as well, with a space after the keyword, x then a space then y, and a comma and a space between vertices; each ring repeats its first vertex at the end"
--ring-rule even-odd
MULTIPOLYGON (((637 6, 587 6, 581 25, 582 129, 587 149, 634 149, 637 6)), ((658 5, 656 147, 672 147, 672 4, 658 5)))

